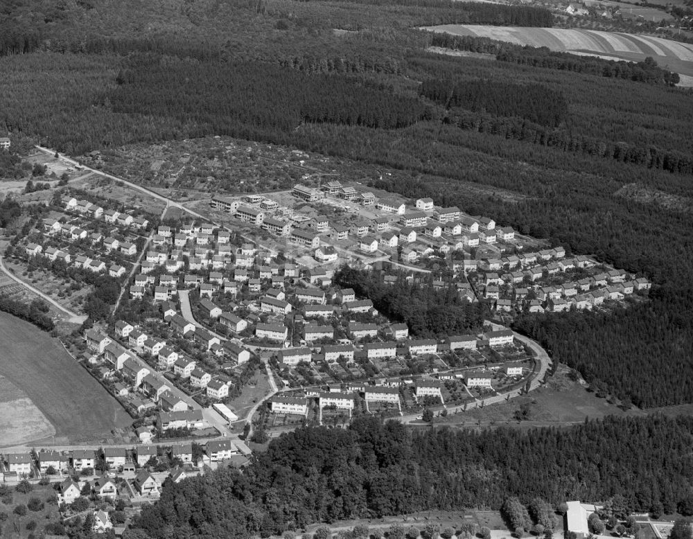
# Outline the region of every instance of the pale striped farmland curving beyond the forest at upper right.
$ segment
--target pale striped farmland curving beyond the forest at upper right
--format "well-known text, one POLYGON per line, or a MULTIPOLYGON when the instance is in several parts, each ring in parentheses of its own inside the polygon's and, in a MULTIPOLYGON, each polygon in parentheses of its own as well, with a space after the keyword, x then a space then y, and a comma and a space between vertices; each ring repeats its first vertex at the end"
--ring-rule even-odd
POLYGON ((473 24, 444 24, 425 29, 452 35, 490 37, 523 46, 547 47, 552 51, 592 53, 607 60, 640 62, 651 56, 660 67, 693 76, 693 44, 662 37, 579 28, 519 28, 473 24))

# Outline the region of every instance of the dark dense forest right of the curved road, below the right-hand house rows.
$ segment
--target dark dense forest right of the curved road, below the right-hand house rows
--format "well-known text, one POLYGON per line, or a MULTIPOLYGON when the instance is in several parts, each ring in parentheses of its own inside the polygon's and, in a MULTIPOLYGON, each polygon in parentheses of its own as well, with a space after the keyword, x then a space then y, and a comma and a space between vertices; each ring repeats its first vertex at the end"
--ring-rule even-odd
POLYGON ((647 305, 610 315, 524 315, 515 328, 551 350, 554 361, 577 369, 597 396, 641 408, 680 405, 693 395, 691 301, 690 289, 656 290, 647 305))

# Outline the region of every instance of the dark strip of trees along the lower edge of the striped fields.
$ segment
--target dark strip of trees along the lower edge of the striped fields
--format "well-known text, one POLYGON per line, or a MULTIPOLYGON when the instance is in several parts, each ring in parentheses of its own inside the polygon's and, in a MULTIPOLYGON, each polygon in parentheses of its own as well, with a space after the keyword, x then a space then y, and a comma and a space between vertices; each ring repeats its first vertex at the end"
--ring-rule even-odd
POLYGON ((679 82, 678 73, 659 67, 652 58, 645 58, 642 62, 606 60, 597 56, 554 52, 547 47, 520 46, 489 37, 447 33, 434 33, 431 37, 431 45, 451 48, 455 51, 493 54, 496 60, 500 62, 512 62, 544 69, 587 73, 600 77, 646 82, 652 85, 674 86, 679 82))

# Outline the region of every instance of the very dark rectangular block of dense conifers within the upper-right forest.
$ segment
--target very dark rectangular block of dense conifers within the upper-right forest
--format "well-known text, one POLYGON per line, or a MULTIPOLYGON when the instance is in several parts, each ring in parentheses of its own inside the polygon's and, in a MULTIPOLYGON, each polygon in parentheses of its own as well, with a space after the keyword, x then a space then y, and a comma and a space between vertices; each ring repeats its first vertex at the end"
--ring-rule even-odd
POLYGON ((557 127, 568 114, 563 94, 540 84, 518 85, 502 80, 424 80, 419 95, 448 109, 525 118, 557 127))

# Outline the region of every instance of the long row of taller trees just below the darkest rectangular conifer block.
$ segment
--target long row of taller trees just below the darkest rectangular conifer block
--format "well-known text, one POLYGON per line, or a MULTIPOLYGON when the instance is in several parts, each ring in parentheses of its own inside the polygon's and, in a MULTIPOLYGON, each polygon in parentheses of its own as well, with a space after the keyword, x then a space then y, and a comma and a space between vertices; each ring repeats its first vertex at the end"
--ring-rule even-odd
MULTIPOLYGON (((527 98, 531 104, 531 98, 527 98)), ((507 111, 516 109, 516 105, 504 106, 507 111)), ((665 170, 668 173, 690 175, 693 173, 693 157, 685 152, 676 150, 663 150, 655 146, 643 148, 619 141, 608 141, 584 136, 564 128, 554 129, 551 125, 541 121, 532 120, 528 116, 502 118, 484 112, 484 107, 476 107, 475 112, 462 109, 453 110, 444 118, 446 123, 455 125, 463 130, 472 130, 480 133, 489 133, 534 145, 556 148, 563 152, 581 153, 603 159, 613 159, 620 163, 629 163, 645 168, 665 170)), ((518 107, 517 112, 520 112, 518 107)), ((529 110, 528 110, 529 112, 529 110)), ((542 114, 542 109, 537 108, 536 113, 542 116, 543 121, 552 118, 558 120, 564 116, 559 111, 547 111, 542 114), (554 114, 558 115, 554 117, 554 114)))

